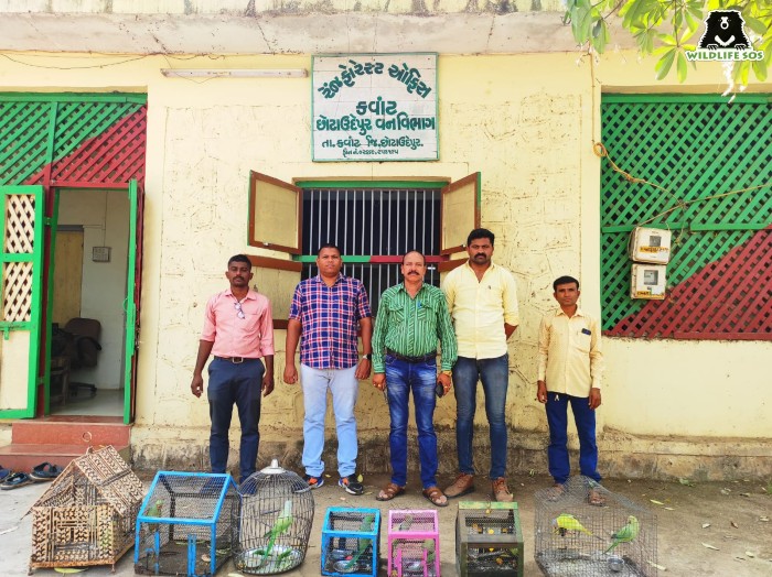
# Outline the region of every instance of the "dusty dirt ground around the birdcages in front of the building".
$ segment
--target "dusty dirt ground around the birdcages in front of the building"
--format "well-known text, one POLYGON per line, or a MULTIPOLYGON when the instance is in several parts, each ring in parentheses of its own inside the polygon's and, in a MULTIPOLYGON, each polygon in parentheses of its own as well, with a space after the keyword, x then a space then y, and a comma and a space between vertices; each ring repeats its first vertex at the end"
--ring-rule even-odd
MULTIPOLYGON (((417 476, 414 476, 417 477, 417 476)), ((152 475, 143 475, 150 479, 152 475)), ((408 493, 390 503, 375 500, 378 488, 388 478, 373 476, 365 479, 366 492, 362 497, 344 493, 336 478, 326 479, 325 486, 313 492, 315 502, 314 524, 303 564, 288 576, 320 575, 320 545, 324 512, 329 507, 379 508, 385 522, 388 504, 394 509, 430 509, 417 486, 408 486, 408 493)), ((549 487, 544 476, 518 477, 511 482, 518 503, 525 545, 525 576, 537 577, 542 570, 534 560, 534 493, 549 487)), ((686 486, 679 482, 647 480, 607 480, 607 489, 655 510, 657 515, 657 564, 664 569, 651 575, 660 576, 772 576, 772 496, 764 483, 753 481, 710 482, 686 486), (657 501, 652 502, 653 501, 657 501), (661 503, 661 504, 660 504, 661 503), (708 547, 708 545, 710 547, 708 547), (715 548, 714 548, 715 547, 715 548)), ((22 576, 28 573, 31 544, 31 515, 29 508, 43 493, 45 487, 33 485, 13 491, 0 492, 0 575, 22 576)), ((486 483, 478 482, 478 492, 467 500, 486 500, 486 483)), ((440 519, 441 573, 453 576, 455 570, 454 526, 458 505, 438 509, 440 519)), ((382 551, 386 547, 386 531, 382 529, 382 551)), ((115 575, 135 575, 132 551, 116 566, 115 575)), ((382 555, 384 557, 385 555, 382 555)), ((235 573, 233 565, 224 566, 217 575, 235 573)), ((53 569, 37 569, 35 575, 58 575, 53 569)), ((92 567, 83 575, 108 576, 109 567, 92 567)), ((382 569, 380 575, 386 575, 382 569)))

